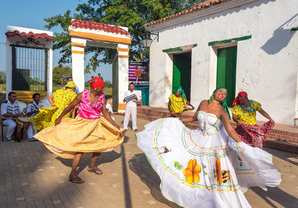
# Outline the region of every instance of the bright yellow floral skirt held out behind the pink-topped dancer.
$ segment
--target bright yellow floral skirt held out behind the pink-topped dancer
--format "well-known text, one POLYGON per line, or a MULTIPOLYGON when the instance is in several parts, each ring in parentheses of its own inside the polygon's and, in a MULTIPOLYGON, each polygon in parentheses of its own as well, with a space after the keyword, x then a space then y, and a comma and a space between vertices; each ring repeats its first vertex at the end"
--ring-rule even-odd
MULTIPOLYGON (((34 124, 35 130, 43 130, 49 126, 54 126, 55 120, 58 119, 64 109, 57 107, 39 108, 40 113, 36 114, 33 118, 29 118, 29 122, 34 124)), ((63 116, 62 119, 69 116, 70 112, 63 116)))

